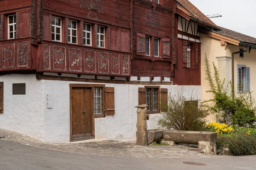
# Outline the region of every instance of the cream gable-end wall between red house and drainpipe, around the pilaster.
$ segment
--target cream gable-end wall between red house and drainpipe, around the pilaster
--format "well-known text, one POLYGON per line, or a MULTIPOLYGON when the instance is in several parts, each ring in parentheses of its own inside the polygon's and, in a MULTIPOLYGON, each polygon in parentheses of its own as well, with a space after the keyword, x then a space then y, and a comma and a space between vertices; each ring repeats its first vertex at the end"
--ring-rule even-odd
MULTIPOLYGON (((220 40, 214 39, 207 35, 200 34, 200 42, 201 42, 201 85, 202 85, 202 91, 203 91, 203 100, 209 100, 209 99, 212 99, 212 94, 206 92, 210 90, 210 87, 209 87, 208 81, 205 80, 206 78, 205 71, 204 71, 204 68, 206 67, 205 61, 204 61, 205 54, 207 55, 207 58, 209 59, 209 62, 211 64, 212 76, 213 76, 212 62, 214 62, 215 66, 218 68, 219 67, 218 59, 216 57, 226 56, 226 51, 225 51, 225 47, 221 45, 220 40)), ((208 118, 209 122, 214 122, 215 120, 216 120, 215 115, 211 115, 208 118)))

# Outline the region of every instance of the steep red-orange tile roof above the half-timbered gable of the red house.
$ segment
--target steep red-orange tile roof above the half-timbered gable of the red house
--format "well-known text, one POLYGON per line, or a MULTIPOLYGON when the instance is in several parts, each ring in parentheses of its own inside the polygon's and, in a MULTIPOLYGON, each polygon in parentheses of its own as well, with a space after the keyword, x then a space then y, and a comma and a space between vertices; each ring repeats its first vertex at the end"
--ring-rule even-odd
POLYGON ((197 7, 195 7, 189 0, 177 0, 177 8, 183 11, 189 17, 193 17, 199 21, 209 24, 215 28, 218 26, 212 22, 206 15, 204 15, 197 7))

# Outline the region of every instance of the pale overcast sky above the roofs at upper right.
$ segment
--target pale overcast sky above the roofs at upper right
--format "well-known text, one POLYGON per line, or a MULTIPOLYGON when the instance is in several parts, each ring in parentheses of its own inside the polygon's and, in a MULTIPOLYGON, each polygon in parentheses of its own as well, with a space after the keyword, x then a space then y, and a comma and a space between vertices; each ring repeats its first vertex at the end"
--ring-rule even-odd
POLYGON ((221 14, 212 18, 217 25, 256 37, 256 0, 189 0, 205 15, 221 14))

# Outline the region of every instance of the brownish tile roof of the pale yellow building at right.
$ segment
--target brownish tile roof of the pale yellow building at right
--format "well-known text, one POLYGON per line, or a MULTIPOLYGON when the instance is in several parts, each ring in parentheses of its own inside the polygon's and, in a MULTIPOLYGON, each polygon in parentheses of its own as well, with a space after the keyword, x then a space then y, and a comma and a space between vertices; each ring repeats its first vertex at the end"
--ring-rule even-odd
POLYGON ((256 44, 256 38, 254 38, 254 37, 250 37, 248 35, 241 34, 239 32, 232 31, 230 29, 223 28, 223 27, 220 27, 220 26, 218 26, 218 27, 221 28, 221 31, 217 31, 220 34, 226 35, 228 37, 232 37, 236 40, 240 40, 240 41, 243 41, 243 42, 256 44))

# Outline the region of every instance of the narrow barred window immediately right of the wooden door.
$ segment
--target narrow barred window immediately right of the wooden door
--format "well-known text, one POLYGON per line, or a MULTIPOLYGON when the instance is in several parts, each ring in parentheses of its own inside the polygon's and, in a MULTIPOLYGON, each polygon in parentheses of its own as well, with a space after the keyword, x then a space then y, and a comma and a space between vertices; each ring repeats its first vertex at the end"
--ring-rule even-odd
POLYGON ((102 88, 94 88, 94 115, 102 114, 102 88))

